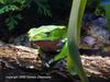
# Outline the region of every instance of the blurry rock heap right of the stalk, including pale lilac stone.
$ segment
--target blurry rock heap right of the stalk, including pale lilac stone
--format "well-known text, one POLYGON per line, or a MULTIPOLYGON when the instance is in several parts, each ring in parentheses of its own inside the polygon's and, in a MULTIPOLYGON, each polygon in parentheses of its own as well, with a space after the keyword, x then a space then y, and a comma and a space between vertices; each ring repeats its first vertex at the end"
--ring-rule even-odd
POLYGON ((105 45, 110 45, 110 32, 107 28, 105 16, 90 20, 88 25, 84 25, 82 30, 81 48, 102 49, 105 45))

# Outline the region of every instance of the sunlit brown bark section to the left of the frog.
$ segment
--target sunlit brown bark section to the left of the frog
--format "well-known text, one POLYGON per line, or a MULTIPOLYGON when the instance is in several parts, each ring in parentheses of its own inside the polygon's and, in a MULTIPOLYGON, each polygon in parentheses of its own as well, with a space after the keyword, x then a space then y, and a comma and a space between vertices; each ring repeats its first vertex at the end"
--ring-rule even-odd
POLYGON ((38 56, 38 50, 24 47, 8 45, 0 47, 0 61, 8 68, 35 68, 42 67, 42 60, 38 56))

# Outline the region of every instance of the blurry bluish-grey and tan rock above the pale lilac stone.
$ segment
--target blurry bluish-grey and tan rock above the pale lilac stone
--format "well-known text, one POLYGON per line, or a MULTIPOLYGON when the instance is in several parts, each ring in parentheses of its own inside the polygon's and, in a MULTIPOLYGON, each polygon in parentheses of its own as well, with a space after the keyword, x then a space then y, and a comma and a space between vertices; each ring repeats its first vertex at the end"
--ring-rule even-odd
MULTIPOLYGON (((86 36, 96 37, 98 42, 110 44, 110 32, 107 28, 107 19, 103 16, 97 17, 90 24, 84 27, 86 36)), ((88 37, 86 37, 87 39, 88 37)), ((90 38, 91 39, 91 38, 90 38)))

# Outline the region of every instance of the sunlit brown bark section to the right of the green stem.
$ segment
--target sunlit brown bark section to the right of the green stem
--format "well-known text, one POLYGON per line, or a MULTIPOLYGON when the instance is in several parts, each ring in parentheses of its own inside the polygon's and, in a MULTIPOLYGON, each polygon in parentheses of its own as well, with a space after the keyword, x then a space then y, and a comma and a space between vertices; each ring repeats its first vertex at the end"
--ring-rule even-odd
POLYGON ((89 75, 110 79, 110 57, 81 56, 81 61, 89 75))

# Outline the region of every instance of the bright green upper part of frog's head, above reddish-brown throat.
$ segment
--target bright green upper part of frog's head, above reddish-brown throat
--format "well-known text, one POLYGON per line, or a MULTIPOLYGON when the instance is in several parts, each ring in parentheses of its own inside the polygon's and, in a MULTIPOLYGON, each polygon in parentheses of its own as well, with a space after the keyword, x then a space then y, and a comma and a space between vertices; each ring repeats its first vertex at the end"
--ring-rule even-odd
POLYGON ((44 25, 36 28, 31 28, 28 34, 31 42, 58 40, 65 37, 66 27, 58 25, 44 25))

